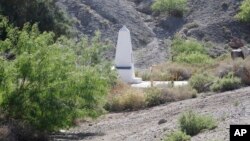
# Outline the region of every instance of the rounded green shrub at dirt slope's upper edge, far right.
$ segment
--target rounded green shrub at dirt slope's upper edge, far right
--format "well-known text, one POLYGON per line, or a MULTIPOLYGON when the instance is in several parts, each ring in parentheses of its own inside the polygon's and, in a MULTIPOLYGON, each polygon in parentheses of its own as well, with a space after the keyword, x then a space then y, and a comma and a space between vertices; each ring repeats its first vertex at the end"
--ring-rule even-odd
POLYGON ((227 76, 218 79, 212 86, 211 89, 215 92, 224 92, 241 87, 241 80, 235 77, 233 73, 229 73, 227 76))

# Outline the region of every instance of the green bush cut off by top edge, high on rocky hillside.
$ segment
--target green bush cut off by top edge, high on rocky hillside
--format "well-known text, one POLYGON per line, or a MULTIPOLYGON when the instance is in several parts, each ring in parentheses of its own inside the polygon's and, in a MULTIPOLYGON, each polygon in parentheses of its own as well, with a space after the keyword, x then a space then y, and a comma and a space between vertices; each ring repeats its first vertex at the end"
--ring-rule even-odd
POLYGON ((169 15, 182 16, 187 8, 187 0, 157 0, 152 5, 155 12, 167 12, 169 15))

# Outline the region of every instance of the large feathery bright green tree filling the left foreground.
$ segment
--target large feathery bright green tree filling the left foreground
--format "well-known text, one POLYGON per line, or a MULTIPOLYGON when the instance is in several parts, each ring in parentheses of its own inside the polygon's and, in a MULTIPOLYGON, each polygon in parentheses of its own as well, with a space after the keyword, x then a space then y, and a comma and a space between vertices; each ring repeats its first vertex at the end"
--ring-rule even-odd
POLYGON ((0 53, 9 50, 16 56, 11 61, 0 56, 1 106, 7 117, 41 131, 57 131, 78 117, 103 112, 110 67, 104 70, 100 61, 78 64, 72 46, 55 41, 54 33, 40 33, 37 25, 25 24, 22 30, 8 25, 6 32, 0 53))

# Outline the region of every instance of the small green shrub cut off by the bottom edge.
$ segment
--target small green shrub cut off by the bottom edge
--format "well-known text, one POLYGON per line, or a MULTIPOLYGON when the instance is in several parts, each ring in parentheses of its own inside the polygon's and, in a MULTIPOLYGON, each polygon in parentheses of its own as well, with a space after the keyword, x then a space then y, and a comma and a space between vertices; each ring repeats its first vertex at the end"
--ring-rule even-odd
POLYGON ((191 136, 182 131, 175 131, 169 134, 164 141, 190 141, 191 136))

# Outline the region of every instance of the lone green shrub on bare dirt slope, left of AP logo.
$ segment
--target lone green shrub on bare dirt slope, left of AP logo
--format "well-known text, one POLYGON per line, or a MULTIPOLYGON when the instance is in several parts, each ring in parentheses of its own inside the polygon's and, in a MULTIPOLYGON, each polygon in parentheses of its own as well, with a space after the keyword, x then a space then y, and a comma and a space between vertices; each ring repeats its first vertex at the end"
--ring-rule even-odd
POLYGON ((193 111, 188 111, 179 118, 181 131, 187 135, 193 136, 200 133, 204 129, 216 128, 216 122, 211 116, 198 115, 193 111))

